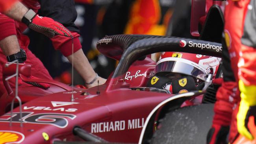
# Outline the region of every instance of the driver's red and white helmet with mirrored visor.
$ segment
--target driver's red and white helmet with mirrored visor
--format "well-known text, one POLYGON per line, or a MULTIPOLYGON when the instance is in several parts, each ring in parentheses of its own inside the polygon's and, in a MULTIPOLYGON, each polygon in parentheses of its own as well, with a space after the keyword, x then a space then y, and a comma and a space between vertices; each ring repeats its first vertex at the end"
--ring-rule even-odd
POLYGON ((215 78, 221 58, 182 52, 163 52, 156 65, 156 74, 178 73, 195 78, 198 85, 204 82, 206 89, 215 78))

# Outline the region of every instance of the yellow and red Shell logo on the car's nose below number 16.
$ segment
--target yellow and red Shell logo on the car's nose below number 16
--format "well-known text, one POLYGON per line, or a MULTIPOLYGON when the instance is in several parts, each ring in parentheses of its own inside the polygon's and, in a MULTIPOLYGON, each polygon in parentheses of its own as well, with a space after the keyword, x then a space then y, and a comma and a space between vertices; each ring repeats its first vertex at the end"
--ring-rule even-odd
POLYGON ((0 131, 0 144, 19 144, 24 138, 24 135, 17 131, 0 131))

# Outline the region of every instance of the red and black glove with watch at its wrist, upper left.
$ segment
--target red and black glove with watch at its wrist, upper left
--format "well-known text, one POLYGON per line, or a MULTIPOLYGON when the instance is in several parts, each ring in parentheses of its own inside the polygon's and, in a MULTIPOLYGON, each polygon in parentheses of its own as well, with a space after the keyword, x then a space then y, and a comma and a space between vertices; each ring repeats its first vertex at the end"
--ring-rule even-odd
POLYGON ((30 9, 24 15, 22 22, 25 23, 28 28, 31 28, 32 30, 42 33, 50 38, 54 38, 56 35, 73 37, 70 31, 62 24, 54 21, 52 18, 40 17, 39 15, 36 15, 32 9, 30 9))

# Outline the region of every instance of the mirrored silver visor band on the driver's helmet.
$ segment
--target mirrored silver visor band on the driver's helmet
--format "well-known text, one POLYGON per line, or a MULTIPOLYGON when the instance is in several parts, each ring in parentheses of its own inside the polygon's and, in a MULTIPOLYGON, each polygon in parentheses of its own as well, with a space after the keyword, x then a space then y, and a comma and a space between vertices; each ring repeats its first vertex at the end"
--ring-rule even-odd
POLYGON ((180 74, 186 74, 194 76, 195 78, 206 81, 208 73, 206 70, 200 70, 195 66, 183 63, 181 61, 164 61, 156 66, 156 73, 158 72, 176 72, 180 74))

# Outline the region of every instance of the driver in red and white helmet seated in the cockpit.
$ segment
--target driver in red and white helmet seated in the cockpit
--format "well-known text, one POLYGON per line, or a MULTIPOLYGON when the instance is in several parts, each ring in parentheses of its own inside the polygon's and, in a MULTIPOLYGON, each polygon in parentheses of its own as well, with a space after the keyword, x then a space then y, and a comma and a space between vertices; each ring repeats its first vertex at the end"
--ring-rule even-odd
POLYGON ((221 58, 206 55, 163 52, 147 87, 167 89, 173 94, 205 90, 215 78, 220 62, 221 58))

